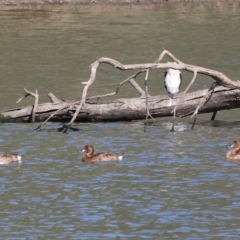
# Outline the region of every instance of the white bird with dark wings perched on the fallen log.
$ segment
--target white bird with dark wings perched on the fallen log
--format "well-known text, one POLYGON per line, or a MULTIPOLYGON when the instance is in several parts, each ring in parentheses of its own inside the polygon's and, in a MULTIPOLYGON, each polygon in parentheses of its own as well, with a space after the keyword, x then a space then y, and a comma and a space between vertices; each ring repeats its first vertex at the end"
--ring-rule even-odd
POLYGON ((182 83, 182 74, 179 70, 169 68, 164 74, 165 88, 169 94, 170 100, 168 106, 172 106, 174 94, 179 92, 182 83))

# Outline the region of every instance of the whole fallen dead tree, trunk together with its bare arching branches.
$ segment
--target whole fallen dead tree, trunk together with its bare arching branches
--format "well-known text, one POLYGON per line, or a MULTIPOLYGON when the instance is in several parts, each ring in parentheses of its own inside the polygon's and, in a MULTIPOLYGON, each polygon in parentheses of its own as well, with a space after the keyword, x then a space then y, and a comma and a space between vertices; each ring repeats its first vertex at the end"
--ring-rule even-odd
MULTIPOLYGON (((3 111, 4 120, 21 119, 29 121, 29 116, 35 121, 44 121, 39 128, 48 120, 68 122, 63 126, 63 132, 68 131, 74 121, 120 121, 120 120, 138 120, 148 117, 166 117, 175 116, 185 117, 192 115, 194 122, 199 113, 216 112, 224 109, 233 109, 240 107, 240 82, 232 81, 223 73, 199 66, 189 65, 181 62, 172 53, 164 50, 158 59, 153 63, 123 65, 120 62, 110 58, 99 58, 91 64, 91 75, 84 85, 80 101, 62 101, 54 95, 49 94, 50 103, 38 104, 38 94, 35 96, 35 104, 20 109, 3 111), (172 62, 160 63, 163 57, 167 55, 172 62), (109 64, 119 70, 138 70, 135 74, 122 81, 112 93, 98 96, 87 96, 88 88, 96 80, 97 69, 101 64, 109 64), (173 68, 185 70, 193 73, 192 80, 186 89, 173 100, 173 107, 167 107, 167 96, 152 97, 148 94, 148 73, 150 70, 159 68, 173 68), (139 74, 146 73, 145 90, 136 82, 139 74), (188 93, 192 84, 196 81, 198 74, 210 76, 210 88, 188 93), (100 99, 105 96, 117 94, 120 87, 129 82, 139 93, 139 98, 117 99, 112 101, 103 101, 100 99), (95 100, 91 100, 95 99, 95 100)), ((26 91, 25 91, 26 92, 26 91)), ((29 92, 27 92, 29 95, 29 92)), ((37 93, 37 92, 36 92, 37 93)), ((173 118, 173 119, 174 119, 173 118)), ((174 130, 174 121, 173 127, 174 130)))

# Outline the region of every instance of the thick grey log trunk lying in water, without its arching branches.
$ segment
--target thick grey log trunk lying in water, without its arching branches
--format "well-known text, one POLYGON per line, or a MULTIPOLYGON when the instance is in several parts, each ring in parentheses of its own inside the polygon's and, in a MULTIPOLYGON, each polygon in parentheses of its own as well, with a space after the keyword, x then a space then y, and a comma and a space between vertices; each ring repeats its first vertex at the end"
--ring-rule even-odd
MULTIPOLYGON (((176 116, 192 115, 209 89, 187 93, 184 101, 178 106, 176 116)), ((173 109, 181 98, 177 94, 173 105, 168 107, 167 95, 148 97, 149 112, 154 118, 172 116, 173 109)), ((35 110, 35 121, 43 122, 51 116, 51 121, 67 122, 72 119, 80 101, 60 100, 49 94, 50 102, 38 104, 35 110), (56 112, 57 111, 57 112, 56 112)), ((211 97, 198 110, 198 114, 216 112, 226 109, 240 108, 240 89, 216 87, 211 97)), ((9 109, 1 112, 2 121, 29 122, 32 119, 33 106, 9 109)), ((146 118, 146 98, 121 98, 116 100, 86 99, 84 106, 77 115, 75 122, 106 122, 140 120, 146 118)))

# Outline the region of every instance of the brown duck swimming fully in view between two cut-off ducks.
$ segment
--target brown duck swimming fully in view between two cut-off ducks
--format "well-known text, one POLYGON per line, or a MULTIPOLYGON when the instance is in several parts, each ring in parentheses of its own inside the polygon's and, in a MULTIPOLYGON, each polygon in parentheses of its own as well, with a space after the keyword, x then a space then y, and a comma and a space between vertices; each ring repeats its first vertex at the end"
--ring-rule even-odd
POLYGON ((82 157, 82 162, 103 162, 103 161, 115 161, 115 160, 122 160, 123 154, 118 153, 95 153, 94 148, 92 145, 86 145, 82 151, 85 152, 84 156, 82 157))

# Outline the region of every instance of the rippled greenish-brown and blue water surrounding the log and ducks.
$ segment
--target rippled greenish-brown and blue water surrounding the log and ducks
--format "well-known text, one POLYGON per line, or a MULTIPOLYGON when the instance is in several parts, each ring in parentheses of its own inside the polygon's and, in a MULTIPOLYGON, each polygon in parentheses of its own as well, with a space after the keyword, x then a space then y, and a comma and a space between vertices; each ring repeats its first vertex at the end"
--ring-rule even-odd
MULTIPOLYGON (((239 78, 238 5, 56 7, 1 11, 0 109, 16 107, 23 88, 81 96, 89 64, 107 56, 122 63, 154 61, 162 47, 180 60, 239 78), (178 7, 176 7, 178 6, 178 7)), ((129 76, 101 67, 90 94, 111 92, 129 76)), ((150 72, 150 93, 165 93, 163 70, 150 72)), ((183 73, 184 86, 191 78, 183 73)), ((139 80, 142 82, 142 78, 139 80)), ((199 77, 192 90, 211 81, 199 77)), ((135 93, 126 85, 119 96, 135 93)), ((25 99, 20 106, 32 103, 25 99)), ((239 164, 225 159, 238 138, 239 110, 215 121, 171 118, 143 131, 141 122, 61 125, 0 124, 1 152, 25 153, 0 167, 1 239, 237 239, 239 164), (124 152, 119 162, 84 164, 79 150, 124 152)))

